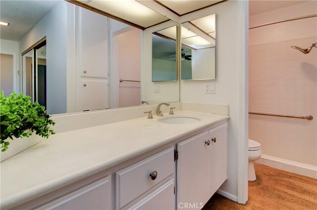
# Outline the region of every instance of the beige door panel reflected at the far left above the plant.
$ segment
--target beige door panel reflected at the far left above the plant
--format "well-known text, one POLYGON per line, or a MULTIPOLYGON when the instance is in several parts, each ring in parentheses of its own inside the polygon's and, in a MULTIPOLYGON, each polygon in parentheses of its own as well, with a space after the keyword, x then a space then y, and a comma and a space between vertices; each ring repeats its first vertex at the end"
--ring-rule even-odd
POLYGON ((0 53, 0 89, 8 96, 13 92, 13 55, 0 53))

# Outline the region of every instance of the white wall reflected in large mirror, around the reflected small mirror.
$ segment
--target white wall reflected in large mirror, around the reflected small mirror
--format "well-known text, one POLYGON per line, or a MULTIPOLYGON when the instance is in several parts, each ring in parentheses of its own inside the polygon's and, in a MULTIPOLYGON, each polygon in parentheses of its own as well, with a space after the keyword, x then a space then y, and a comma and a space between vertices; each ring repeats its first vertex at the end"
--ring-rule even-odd
POLYGON ((167 21, 143 31, 143 66, 141 71, 141 100, 142 101, 179 101, 179 82, 152 82, 152 33, 174 26, 176 23, 167 21), (160 85, 161 93, 154 93, 160 85))

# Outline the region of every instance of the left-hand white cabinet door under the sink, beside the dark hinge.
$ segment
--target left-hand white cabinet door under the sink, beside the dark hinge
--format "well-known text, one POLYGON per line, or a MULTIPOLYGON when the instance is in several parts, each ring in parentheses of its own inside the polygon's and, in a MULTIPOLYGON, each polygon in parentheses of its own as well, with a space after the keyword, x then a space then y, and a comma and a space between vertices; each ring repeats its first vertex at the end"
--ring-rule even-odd
POLYGON ((177 209, 210 199, 208 131, 177 144, 177 209))

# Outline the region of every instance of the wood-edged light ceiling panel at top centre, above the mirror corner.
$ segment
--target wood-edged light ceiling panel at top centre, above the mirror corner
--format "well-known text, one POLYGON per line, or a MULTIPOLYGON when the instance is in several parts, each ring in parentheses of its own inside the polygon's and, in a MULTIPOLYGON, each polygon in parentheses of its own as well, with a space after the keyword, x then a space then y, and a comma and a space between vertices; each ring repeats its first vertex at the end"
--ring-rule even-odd
POLYGON ((211 6, 222 0, 157 0, 178 15, 184 15, 197 9, 211 6))

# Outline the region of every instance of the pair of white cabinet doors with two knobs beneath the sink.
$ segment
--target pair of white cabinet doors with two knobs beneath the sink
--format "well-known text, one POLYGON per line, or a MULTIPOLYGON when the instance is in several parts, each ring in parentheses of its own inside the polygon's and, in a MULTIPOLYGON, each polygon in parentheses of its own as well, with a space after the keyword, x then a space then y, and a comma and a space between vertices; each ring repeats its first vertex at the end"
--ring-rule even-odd
POLYGON ((177 209, 202 208, 227 179, 227 123, 178 143, 177 151, 177 209))

